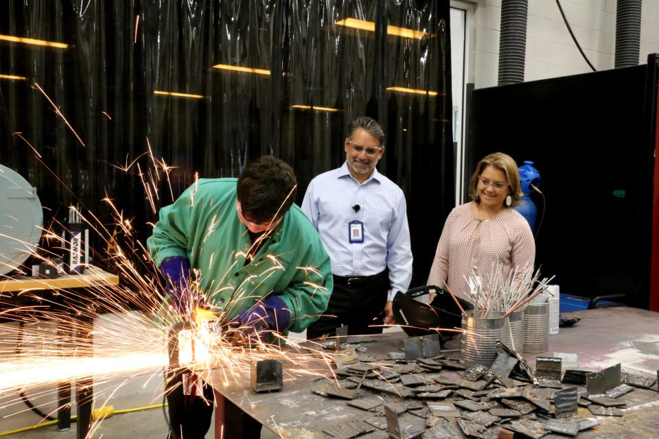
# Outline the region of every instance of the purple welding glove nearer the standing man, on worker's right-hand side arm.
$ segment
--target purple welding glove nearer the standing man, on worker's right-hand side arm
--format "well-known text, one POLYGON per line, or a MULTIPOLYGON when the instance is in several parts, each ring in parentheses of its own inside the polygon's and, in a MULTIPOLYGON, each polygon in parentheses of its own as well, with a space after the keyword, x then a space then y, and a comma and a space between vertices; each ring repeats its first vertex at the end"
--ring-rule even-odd
POLYGON ((286 331, 289 322, 290 314, 284 300, 270 296, 231 320, 230 326, 235 329, 231 341, 234 344, 266 343, 273 332, 286 331))

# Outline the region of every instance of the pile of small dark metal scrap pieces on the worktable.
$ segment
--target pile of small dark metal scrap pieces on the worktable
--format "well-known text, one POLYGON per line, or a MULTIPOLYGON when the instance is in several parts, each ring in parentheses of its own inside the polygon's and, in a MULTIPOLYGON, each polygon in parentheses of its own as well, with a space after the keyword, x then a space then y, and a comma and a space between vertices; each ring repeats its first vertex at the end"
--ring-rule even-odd
MULTIPOLYGON (((435 353, 428 337, 406 340, 415 353, 435 353), (425 340, 421 340, 425 338, 425 340), (425 345, 424 345, 425 344, 425 345)), ((437 348, 439 350, 439 347, 437 348)), ((387 353, 374 361, 343 362, 313 389, 336 396, 365 411, 354 419, 350 433, 326 430, 332 438, 424 439, 542 438, 557 433, 577 436, 599 423, 578 416, 579 405, 593 415, 622 416, 625 394, 634 385, 654 383, 621 377, 620 365, 600 372, 566 370, 559 357, 538 357, 535 371, 517 353, 503 348, 494 364, 466 368, 443 355, 415 359, 387 353), (502 436, 499 436, 499 435, 502 436), (349 436, 352 435, 352 436, 349 436)), ((425 356, 425 355, 424 355, 425 356)), ((582 410, 583 412, 583 410, 582 410)), ((352 422, 352 421, 351 421, 352 422)))

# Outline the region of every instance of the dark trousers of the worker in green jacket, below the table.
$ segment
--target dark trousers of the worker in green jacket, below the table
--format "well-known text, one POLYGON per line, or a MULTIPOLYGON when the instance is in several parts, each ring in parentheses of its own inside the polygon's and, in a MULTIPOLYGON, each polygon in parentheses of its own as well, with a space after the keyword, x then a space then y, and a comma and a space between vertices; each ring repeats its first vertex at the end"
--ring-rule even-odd
MULTIPOLYGON (((167 439, 203 439, 211 426, 214 391, 210 385, 204 385, 204 398, 183 394, 184 373, 168 374, 165 381, 165 388, 172 389, 167 394, 170 416, 170 432, 167 439)), ((216 416, 222 418, 223 439, 261 437, 261 424, 219 394, 216 416)))

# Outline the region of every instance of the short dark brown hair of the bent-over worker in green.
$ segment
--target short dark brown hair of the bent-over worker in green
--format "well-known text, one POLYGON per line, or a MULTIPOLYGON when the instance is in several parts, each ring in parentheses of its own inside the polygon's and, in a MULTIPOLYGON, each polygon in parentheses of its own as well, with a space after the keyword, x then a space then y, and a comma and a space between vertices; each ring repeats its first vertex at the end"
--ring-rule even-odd
POLYGON ((256 224, 277 221, 292 206, 296 185, 295 173, 286 162, 275 156, 259 157, 249 163, 238 178, 242 215, 256 224))

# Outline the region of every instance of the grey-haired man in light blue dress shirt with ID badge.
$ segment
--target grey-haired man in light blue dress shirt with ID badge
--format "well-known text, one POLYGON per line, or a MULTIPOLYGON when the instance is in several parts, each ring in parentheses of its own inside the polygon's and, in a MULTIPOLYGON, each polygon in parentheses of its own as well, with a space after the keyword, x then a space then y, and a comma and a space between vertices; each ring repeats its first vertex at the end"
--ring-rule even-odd
POLYGON ((412 278, 405 196, 375 169, 384 132, 371 117, 358 117, 348 133, 345 163, 316 176, 302 202, 334 275, 327 311, 308 327, 308 339, 334 335, 342 324, 351 335, 381 333, 383 322, 393 323, 393 296, 412 278))

